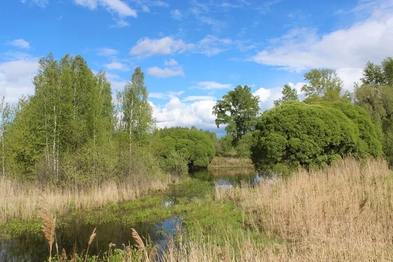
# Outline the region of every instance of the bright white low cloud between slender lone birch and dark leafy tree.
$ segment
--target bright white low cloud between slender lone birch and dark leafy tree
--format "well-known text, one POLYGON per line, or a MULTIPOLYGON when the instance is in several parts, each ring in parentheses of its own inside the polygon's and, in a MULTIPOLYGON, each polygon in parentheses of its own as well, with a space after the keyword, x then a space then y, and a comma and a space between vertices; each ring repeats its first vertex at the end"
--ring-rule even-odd
POLYGON ((153 108, 153 117, 157 127, 197 126, 199 128, 215 128, 215 116, 212 108, 216 101, 212 99, 195 101, 187 104, 175 97, 169 100, 164 107, 153 108))

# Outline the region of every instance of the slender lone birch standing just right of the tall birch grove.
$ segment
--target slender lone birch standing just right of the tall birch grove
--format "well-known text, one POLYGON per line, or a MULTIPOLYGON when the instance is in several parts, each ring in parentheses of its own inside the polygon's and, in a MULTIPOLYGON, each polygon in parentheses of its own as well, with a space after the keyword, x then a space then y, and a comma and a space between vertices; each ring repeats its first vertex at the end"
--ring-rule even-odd
POLYGON ((123 122, 129 134, 129 147, 134 138, 143 140, 153 124, 152 109, 148 101, 145 75, 140 67, 135 68, 123 92, 123 122))

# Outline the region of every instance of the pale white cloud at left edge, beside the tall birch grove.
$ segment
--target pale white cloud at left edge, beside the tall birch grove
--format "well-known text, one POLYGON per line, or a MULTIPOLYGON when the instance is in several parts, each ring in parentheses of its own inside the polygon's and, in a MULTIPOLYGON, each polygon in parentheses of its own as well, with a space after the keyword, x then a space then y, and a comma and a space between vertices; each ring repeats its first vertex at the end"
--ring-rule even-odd
POLYGON ((16 103, 22 95, 34 94, 32 78, 37 68, 37 58, 20 54, 11 61, 0 62, 0 96, 16 103))

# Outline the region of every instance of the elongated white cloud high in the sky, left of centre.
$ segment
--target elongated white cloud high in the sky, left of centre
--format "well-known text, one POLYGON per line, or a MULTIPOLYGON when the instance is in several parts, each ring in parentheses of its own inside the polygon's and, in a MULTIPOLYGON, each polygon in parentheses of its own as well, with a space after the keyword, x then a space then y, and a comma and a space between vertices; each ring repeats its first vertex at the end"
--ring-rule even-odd
POLYGON ((192 47, 193 44, 187 44, 181 39, 175 40, 172 37, 160 39, 145 37, 138 40, 131 48, 130 54, 136 56, 171 55, 183 53, 192 47))

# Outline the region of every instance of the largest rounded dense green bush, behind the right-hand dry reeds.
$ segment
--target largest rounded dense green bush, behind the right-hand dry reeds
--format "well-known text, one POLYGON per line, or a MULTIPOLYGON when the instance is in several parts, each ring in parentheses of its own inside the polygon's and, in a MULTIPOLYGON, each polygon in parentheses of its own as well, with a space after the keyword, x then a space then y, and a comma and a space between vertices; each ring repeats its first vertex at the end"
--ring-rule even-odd
POLYGON ((253 137, 251 158, 266 171, 320 167, 343 155, 382 153, 370 116, 343 102, 285 102, 262 114, 253 137))

